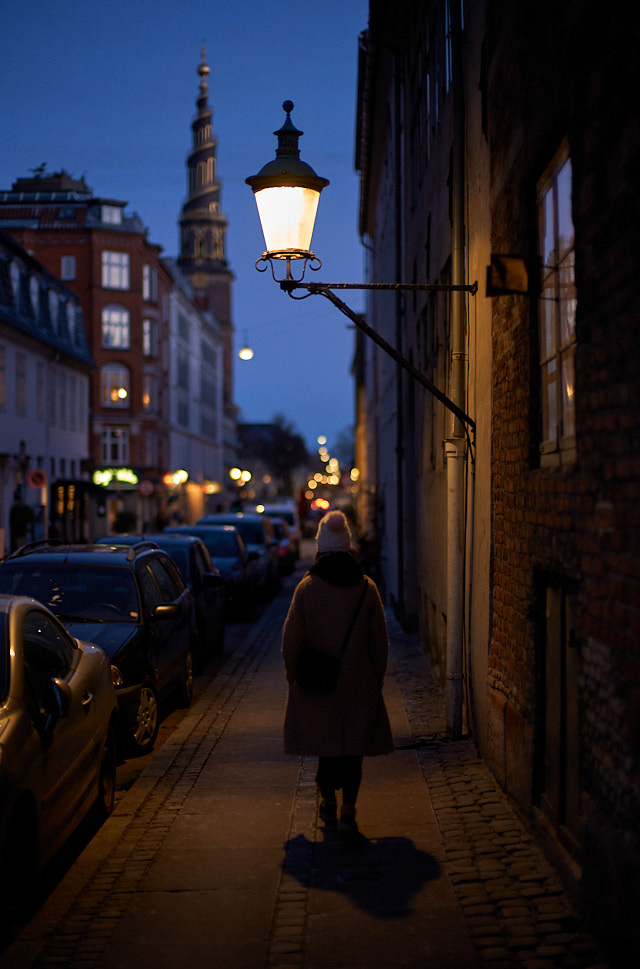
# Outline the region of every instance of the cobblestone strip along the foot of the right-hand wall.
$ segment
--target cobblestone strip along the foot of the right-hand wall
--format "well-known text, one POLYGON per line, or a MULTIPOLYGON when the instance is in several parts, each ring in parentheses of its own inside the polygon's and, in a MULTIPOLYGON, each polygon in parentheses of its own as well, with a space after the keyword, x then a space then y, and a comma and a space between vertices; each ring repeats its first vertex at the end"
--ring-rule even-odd
POLYGON ((444 696, 417 637, 389 617, 391 659, 448 873, 481 965, 605 969, 555 871, 470 740, 447 741, 444 696))

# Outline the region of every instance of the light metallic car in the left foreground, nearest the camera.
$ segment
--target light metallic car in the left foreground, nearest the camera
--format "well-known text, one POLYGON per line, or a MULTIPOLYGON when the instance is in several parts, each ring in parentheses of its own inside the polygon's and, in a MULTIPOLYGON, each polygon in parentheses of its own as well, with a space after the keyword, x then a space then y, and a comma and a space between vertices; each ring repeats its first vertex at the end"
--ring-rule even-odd
POLYGON ((41 603, 0 595, 0 872, 3 905, 23 900, 93 808, 113 810, 118 703, 97 646, 41 603))

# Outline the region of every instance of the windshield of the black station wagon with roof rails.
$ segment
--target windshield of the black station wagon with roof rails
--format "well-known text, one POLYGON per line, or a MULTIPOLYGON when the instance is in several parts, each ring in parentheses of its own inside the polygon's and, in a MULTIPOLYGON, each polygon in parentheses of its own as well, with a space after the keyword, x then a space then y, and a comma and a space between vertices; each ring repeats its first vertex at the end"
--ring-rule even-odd
POLYGON ((136 622, 140 606, 133 573, 59 562, 4 562, 0 591, 31 596, 61 619, 136 622))

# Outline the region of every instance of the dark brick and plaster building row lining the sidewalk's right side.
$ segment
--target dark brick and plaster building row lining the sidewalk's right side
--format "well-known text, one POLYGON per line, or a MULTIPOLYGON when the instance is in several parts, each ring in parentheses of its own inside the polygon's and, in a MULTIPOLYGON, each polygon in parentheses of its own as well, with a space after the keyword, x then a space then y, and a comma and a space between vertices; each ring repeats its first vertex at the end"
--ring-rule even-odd
POLYGON ((631 965, 638 13, 593 17, 578 0, 369 10, 356 146, 368 278, 457 283, 462 255, 462 281, 479 288, 462 306, 452 293, 371 296, 369 322, 475 428, 467 439, 361 342, 361 526, 462 728, 615 965, 631 965))

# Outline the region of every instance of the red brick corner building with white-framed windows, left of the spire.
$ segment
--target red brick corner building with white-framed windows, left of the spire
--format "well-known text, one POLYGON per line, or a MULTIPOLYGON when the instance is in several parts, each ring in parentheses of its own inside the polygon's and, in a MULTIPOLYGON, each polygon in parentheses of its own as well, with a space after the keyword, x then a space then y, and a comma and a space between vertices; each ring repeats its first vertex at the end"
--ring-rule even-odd
POLYGON ((0 218, 81 299, 97 367, 90 395, 95 468, 131 468, 155 487, 169 470, 164 348, 173 282, 160 247, 126 205, 94 195, 65 172, 36 173, 0 195, 0 218))

